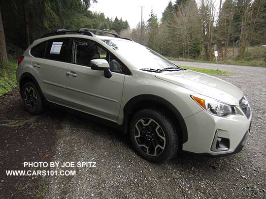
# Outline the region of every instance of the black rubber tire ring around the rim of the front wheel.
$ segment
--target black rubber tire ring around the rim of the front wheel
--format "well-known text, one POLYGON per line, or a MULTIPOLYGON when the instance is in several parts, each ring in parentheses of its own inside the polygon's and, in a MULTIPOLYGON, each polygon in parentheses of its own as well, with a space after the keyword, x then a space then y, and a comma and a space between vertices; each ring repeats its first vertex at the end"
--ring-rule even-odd
POLYGON ((151 162, 155 162, 155 163, 160 163, 160 162, 165 162, 166 160, 168 160, 171 156, 171 147, 174 144, 178 144, 177 142, 177 138, 174 139, 175 133, 174 133, 174 128, 173 125, 170 123, 170 121, 160 112, 157 112, 155 110, 142 110, 137 112, 130 123, 130 138, 131 138, 131 142, 133 144, 134 149, 137 151, 137 153, 143 157, 144 159, 151 161, 151 162), (141 150, 141 148, 138 147, 135 138, 134 138, 134 127, 136 122, 141 119, 141 118, 151 118, 153 120, 155 120, 164 130, 165 136, 166 136, 166 147, 164 149, 164 151, 158 155, 158 156, 150 156, 147 153, 145 153, 143 150, 141 150), (176 142, 176 143, 174 143, 176 142))

